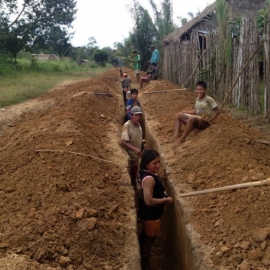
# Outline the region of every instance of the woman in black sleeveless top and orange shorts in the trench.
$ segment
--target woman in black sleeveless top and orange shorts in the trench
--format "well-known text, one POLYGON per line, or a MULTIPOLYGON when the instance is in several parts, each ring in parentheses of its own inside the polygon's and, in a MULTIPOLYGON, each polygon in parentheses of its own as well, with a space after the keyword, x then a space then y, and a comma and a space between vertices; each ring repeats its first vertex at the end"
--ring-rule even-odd
POLYGON ((139 235, 141 246, 142 269, 149 269, 151 247, 156 236, 160 236, 160 218, 164 204, 173 203, 165 193, 165 188, 157 175, 160 167, 160 157, 154 150, 145 150, 140 163, 140 179, 138 189, 138 215, 143 228, 139 235))

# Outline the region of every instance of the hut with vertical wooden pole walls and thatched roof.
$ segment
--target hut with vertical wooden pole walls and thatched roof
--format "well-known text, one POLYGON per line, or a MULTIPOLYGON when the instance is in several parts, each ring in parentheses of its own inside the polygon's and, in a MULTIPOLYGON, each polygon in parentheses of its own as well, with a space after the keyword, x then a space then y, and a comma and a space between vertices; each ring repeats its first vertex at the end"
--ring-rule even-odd
MULTIPOLYGON (((218 1, 209 5, 199 16, 163 38, 162 75, 190 88, 195 81, 205 80, 210 94, 222 100, 257 49, 260 37, 257 13, 265 7, 265 0, 227 0, 230 21, 222 31, 212 20, 217 5, 218 1)), ((259 71, 257 52, 228 100, 253 114, 259 114, 261 107, 259 71)))

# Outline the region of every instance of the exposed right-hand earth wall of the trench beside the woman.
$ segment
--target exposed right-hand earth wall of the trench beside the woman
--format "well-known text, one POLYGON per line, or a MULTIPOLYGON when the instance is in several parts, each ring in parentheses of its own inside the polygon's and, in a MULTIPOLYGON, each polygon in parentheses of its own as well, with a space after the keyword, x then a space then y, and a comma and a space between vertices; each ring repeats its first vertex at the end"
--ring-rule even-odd
MULTIPOLYGON (((190 232, 186 227, 185 210, 177 199, 176 190, 170 185, 166 158, 145 118, 143 118, 141 124, 147 148, 156 150, 160 154, 161 168, 159 175, 163 180, 166 191, 174 200, 173 205, 166 205, 164 208, 164 214, 161 218, 161 237, 155 239, 150 264, 153 269, 162 270, 199 269, 195 263, 190 232)), ((134 196, 136 196, 136 193, 134 196)), ((136 198, 134 201, 136 201, 136 198)), ((140 227, 140 224, 138 224, 138 227, 140 227)), ((138 229, 139 231, 140 229, 138 229)))

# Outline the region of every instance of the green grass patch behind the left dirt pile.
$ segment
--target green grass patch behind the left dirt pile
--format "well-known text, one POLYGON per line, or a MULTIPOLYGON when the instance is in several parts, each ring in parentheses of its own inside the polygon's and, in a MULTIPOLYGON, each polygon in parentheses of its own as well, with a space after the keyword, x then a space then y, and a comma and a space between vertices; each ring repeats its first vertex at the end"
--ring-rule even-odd
POLYGON ((82 67, 70 61, 33 63, 29 60, 0 64, 0 107, 37 97, 64 81, 96 77, 110 68, 91 68, 90 64, 82 67))

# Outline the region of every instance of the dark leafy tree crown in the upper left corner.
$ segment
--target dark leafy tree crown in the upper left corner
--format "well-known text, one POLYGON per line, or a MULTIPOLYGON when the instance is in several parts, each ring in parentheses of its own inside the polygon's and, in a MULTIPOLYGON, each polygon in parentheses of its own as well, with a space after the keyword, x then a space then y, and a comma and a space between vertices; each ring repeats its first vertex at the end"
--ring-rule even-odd
POLYGON ((25 0, 20 9, 17 2, 0 1, 0 51, 6 50, 14 58, 22 48, 67 55, 72 36, 68 28, 75 19, 76 1, 25 0))

